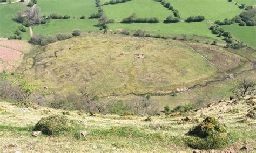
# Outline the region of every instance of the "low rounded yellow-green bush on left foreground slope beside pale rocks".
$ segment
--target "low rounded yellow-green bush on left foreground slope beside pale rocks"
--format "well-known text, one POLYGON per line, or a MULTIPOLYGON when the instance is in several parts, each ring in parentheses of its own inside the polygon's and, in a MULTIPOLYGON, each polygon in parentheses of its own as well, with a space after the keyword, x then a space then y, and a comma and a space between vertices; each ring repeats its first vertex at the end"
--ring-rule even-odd
POLYGON ((59 135, 70 131, 73 124, 74 122, 70 121, 64 115, 51 115, 40 119, 33 130, 42 131, 46 135, 59 135))

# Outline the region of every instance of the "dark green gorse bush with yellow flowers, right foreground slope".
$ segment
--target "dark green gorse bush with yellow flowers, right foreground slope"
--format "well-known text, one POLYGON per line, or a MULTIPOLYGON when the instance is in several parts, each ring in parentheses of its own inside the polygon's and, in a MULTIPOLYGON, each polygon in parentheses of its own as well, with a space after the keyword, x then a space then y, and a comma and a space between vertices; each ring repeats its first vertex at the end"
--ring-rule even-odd
POLYGON ((186 142, 195 149, 222 149, 232 142, 225 127, 212 116, 190 129, 188 135, 186 142))

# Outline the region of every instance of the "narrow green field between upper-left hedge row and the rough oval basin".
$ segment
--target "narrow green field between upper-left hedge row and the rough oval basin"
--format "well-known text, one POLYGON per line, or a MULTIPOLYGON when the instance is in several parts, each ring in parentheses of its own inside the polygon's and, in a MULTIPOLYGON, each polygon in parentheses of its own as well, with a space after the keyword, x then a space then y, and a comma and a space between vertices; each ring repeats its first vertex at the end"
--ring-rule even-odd
POLYGON ((34 33, 57 34, 71 33, 74 29, 81 29, 83 32, 99 31, 94 25, 98 24, 98 19, 62 19, 49 20, 48 23, 33 27, 34 33))

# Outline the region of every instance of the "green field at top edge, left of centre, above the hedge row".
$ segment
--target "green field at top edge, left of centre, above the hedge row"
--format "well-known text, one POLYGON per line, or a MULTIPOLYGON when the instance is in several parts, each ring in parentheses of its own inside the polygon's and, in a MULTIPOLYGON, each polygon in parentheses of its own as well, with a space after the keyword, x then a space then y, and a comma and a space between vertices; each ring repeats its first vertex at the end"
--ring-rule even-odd
POLYGON ((41 8, 42 15, 58 13, 59 15, 69 15, 71 17, 89 17, 97 12, 95 1, 93 0, 41 0, 37 2, 41 8))

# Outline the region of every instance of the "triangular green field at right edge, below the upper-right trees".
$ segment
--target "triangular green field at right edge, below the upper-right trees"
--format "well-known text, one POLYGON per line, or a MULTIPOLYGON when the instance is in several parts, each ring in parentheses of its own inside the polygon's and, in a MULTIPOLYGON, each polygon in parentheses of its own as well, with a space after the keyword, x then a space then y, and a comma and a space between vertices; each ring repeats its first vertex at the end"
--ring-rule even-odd
POLYGON ((244 44, 256 49, 256 27, 239 26, 237 23, 222 26, 226 31, 231 32, 232 36, 244 42, 244 44))

